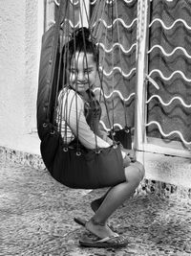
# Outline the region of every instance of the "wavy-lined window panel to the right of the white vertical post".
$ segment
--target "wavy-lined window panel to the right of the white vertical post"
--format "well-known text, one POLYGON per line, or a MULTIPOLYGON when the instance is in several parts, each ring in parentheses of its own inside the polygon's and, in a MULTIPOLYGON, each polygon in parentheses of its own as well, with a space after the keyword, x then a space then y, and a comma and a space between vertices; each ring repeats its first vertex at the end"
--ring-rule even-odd
POLYGON ((147 135, 191 141, 191 1, 151 1, 147 135))

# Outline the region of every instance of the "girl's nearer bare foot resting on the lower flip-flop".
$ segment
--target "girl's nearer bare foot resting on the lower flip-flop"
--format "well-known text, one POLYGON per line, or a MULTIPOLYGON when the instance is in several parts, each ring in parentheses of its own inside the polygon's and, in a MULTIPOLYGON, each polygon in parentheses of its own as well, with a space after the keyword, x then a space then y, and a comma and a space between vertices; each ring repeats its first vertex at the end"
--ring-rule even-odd
POLYGON ((90 231, 100 239, 117 236, 117 233, 112 231, 112 229, 107 225, 107 223, 97 223, 93 219, 87 221, 85 227, 88 231, 90 231))

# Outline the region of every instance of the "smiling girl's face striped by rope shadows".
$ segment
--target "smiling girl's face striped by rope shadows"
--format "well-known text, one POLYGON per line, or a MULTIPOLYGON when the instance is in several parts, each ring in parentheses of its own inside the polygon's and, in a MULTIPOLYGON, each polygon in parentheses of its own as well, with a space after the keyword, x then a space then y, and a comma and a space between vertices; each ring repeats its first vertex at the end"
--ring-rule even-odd
POLYGON ((70 84, 80 94, 92 88, 96 81, 96 61, 93 54, 76 52, 70 69, 70 84))

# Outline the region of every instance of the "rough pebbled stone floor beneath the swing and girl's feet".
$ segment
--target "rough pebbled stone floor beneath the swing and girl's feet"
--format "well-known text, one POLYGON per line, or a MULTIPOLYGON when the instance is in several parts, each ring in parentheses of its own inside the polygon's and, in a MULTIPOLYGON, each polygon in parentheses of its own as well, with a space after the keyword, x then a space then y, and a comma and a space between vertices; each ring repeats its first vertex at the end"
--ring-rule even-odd
POLYGON ((123 249, 81 248, 89 202, 103 191, 72 190, 45 170, 0 161, 0 255, 191 255, 191 198, 147 194, 130 198, 111 222, 129 237, 123 249))

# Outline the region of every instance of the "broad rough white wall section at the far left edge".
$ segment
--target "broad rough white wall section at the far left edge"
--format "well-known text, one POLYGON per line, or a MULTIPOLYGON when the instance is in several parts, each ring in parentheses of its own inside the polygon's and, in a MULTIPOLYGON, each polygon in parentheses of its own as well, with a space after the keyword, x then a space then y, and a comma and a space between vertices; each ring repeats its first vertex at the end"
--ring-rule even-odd
POLYGON ((10 144, 24 128, 24 7, 24 1, 1 1, 0 8, 0 132, 10 144))

